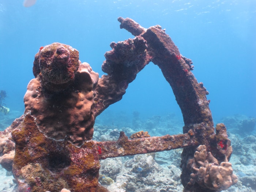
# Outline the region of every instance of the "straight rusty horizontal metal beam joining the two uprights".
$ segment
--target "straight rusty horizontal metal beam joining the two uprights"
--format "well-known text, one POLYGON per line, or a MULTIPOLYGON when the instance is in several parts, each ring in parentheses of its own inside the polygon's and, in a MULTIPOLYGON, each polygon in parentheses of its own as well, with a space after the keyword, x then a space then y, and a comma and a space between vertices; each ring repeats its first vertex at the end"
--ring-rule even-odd
POLYGON ((197 146, 198 142, 194 133, 190 130, 189 133, 185 134, 139 139, 128 139, 124 132, 120 132, 120 137, 117 141, 97 142, 96 144, 98 146, 99 159, 106 159, 197 146))

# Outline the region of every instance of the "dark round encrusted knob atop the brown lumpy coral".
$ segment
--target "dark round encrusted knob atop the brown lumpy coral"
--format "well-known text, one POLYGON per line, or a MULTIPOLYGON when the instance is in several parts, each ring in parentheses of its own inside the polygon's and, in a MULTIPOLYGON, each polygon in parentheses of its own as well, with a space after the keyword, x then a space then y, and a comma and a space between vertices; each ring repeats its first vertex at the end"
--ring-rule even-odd
POLYGON ((35 55, 33 72, 42 82, 65 84, 74 79, 79 67, 79 52, 69 45, 53 43, 35 55))

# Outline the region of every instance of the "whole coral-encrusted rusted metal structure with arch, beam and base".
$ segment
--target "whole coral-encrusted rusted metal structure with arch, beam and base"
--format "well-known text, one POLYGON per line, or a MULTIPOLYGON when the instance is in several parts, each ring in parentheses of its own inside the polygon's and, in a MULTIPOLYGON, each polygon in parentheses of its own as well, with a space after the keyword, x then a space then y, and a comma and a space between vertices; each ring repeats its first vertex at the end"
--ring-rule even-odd
POLYGON ((192 61, 180 54, 161 26, 145 29, 129 18, 118 21, 120 28, 136 37, 110 44, 112 50, 105 53, 102 65, 107 75, 101 78, 68 45, 40 48, 33 67, 35 79, 24 97, 24 116, 0 133, 0 146, 5 146, 0 148, 1 165, 12 169, 20 192, 107 191, 98 184, 100 159, 183 148, 184 191, 229 188, 237 182, 228 162, 230 140, 224 124, 214 127, 208 91, 191 72, 192 61), (121 132, 117 141, 91 140, 95 117, 119 101, 151 61, 172 87, 184 134, 149 137, 140 132, 138 138, 128 139, 121 132))

